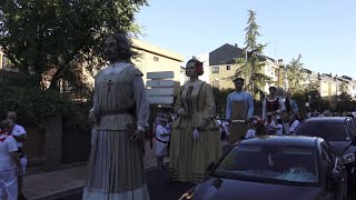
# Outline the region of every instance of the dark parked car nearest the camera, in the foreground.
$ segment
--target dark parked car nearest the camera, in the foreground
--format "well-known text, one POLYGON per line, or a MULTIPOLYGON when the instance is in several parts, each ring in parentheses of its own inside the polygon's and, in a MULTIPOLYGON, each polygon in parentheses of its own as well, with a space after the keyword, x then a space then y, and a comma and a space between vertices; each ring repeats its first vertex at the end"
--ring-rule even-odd
POLYGON ((322 138, 267 136, 236 143, 180 199, 346 199, 347 173, 322 138))

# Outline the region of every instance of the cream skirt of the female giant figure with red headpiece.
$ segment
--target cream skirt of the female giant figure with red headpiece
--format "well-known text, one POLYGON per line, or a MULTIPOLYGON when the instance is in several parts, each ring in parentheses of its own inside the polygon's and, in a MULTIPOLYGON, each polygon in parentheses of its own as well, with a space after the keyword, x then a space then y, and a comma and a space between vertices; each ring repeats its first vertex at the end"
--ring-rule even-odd
POLYGON ((198 183, 206 176, 206 168, 222 154, 218 126, 211 121, 208 130, 194 140, 196 118, 186 118, 174 124, 169 148, 169 174, 180 182, 198 183))

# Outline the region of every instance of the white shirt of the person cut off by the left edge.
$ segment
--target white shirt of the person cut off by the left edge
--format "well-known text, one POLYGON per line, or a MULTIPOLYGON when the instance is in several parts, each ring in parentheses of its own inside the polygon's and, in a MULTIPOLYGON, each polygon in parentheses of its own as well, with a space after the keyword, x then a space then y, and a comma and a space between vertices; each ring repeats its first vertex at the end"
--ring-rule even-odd
POLYGON ((0 170, 12 170, 16 168, 14 160, 10 153, 18 150, 12 136, 7 137, 4 141, 0 141, 0 170))

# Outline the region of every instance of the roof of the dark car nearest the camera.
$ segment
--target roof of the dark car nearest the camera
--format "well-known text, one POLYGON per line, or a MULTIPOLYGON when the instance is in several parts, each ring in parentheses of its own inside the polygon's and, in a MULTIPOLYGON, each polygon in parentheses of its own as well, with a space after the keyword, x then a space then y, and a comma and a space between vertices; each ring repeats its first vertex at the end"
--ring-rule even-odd
POLYGON ((241 144, 264 144, 264 146, 283 146, 283 147, 309 147, 314 148, 317 143, 324 141, 317 137, 305 136, 260 136, 243 140, 241 144))

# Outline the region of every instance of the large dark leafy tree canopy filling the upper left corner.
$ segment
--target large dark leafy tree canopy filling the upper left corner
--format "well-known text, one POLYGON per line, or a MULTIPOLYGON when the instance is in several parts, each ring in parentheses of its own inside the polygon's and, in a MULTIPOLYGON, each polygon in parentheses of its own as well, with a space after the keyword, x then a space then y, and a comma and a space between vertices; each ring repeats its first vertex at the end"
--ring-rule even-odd
POLYGON ((110 32, 134 32, 135 13, 146 0, 0 0, 0 46, 12 64, 29 76, 82 82, 102 63, 101 43, 110 32))

